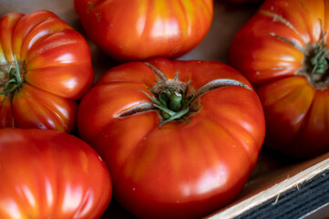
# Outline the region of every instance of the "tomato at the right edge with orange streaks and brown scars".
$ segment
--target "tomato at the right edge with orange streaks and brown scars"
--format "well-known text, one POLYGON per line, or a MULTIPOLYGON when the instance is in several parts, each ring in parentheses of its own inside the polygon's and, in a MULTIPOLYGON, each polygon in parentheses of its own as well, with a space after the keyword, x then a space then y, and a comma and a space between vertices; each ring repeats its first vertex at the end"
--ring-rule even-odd
POLYGON ((265 144, 293 156, 329 150, 328 12, 327 0, 268 0, 231 43, 262 101, 265 144))

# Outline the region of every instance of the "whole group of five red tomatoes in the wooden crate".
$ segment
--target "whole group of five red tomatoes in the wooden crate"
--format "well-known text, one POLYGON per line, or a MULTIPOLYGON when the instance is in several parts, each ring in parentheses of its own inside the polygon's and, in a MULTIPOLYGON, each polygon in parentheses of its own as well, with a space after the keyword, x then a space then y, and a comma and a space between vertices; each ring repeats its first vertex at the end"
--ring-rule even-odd
POLYGON ((139 218, 199 218, 239 195, 262 146, 329 151, 328 1, 263 2, 230 66, 175 59, 209 32, 212 0, 74 5, 120 63, 96 81, 54 13, 0 18, 0 218, 100 218, 112 193, 139 218))

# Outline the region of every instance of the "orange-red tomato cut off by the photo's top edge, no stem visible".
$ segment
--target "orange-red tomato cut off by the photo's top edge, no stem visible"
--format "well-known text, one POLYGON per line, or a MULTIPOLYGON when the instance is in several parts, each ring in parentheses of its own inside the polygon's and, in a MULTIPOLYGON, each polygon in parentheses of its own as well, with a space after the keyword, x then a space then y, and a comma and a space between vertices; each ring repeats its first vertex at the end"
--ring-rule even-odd
POLYGON ((118 61, 180 57, 207 35, 212 0, 75 0, 87 36, 118 61))

